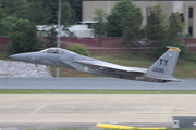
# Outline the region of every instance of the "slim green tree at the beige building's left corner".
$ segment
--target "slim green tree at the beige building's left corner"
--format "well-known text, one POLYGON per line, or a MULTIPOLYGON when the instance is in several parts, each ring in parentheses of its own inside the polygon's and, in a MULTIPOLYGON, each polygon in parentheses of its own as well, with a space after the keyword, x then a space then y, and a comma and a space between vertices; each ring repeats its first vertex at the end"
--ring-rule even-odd
POLYGON ((95 36, 102 36, 105 35, 105 18, 107 16, 106 12, 102 9, 96 9, 94 14, 96 15, 94 17, 94 21, 97 21, 97 23, 93 24, 93 28, 95 30, 95 36))

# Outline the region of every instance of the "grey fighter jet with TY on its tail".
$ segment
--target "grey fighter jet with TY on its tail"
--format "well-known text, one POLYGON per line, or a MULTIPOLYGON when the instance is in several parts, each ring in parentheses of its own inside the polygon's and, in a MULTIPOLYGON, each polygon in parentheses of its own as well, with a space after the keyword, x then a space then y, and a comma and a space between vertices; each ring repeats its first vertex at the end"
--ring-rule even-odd
POLYGON ((150 82, 179 82, 181 80, 173 76, 181 50, 177 47, 167 46, 167 48, 169 48, 168 51, 166 51, 148 69, 121 66, 84 56, 61 48, 48 48, 38 52, 13 54, 10 57, 36 65, 41 64, 63 67, 97 76, 150 82))

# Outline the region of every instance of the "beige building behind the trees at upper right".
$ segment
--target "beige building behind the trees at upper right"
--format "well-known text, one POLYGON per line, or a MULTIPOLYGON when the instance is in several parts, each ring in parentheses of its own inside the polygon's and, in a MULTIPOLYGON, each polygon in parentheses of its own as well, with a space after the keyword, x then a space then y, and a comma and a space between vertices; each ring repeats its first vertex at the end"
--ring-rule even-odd
MULTIPOLYGON (((121 0, 83 0, 83 23, 93 21, 95 9, 102 9, 110 14, 112 8, 121 0)), ((143 13, 143 25, 146 25, 147 17, 154 10, 154 6, 160 4, 163 13, 170 16, 172 12, 179 12, 182 21, 185 22, 185 32, 189 32, 196 38, 196 1, 195 0, 132 0, 139 6, 143 13), (195 15, 195 16, 194 16, 195 15)))

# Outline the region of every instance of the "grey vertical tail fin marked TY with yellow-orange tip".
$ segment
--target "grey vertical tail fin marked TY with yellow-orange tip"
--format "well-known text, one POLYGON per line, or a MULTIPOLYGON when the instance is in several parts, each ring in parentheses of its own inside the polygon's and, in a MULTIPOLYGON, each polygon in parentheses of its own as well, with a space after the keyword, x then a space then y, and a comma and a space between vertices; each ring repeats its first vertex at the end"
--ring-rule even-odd
POLYGON ((177 81, 173 76, 181 50, 177 47, 167 46, 167 48, 169 48, 168 51, 164 52, 146 72, 146 78, 177 81))

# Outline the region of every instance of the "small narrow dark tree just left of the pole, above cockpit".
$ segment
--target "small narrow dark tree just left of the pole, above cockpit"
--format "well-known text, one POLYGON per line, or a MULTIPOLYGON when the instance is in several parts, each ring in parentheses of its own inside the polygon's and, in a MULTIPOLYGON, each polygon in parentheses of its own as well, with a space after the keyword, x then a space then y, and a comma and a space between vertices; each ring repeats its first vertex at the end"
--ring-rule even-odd
POLYGON ((52 25, 51 29, 47 32, 47 48, 57 46, 57 35, 58 34, 56 32, 56 28, 52 25))

